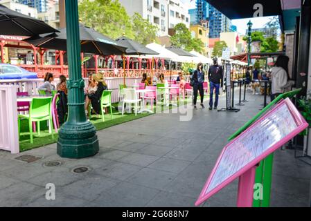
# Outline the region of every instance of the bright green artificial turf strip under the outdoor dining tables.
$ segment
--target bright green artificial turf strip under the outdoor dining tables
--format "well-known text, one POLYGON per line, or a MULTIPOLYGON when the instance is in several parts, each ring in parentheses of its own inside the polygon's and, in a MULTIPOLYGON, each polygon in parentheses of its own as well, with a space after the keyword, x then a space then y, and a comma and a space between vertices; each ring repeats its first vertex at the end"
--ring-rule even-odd
MULTIPOLYGON (((187 101, 185 101, 184 104, 186 104, 187 101)), ((114 107, 116 107, 118 104, 113 104, 114 107)), ((150 108, 150 106, 148 106, 150 108)), ((169 108, 174 108, 170 106, 169 108)), ((162 111, 166 110, 167 107, 162 106, 162 111)), ((149 115, 153 115, 151 113, 143 113, 143 114, 137 114, 135 116, 134 113, 122 115, 122 113, 116 111, 115 108, 113 108, 113 119, 111 118, 111 115, 108 113, 105 115, 105 122, 103 122, 102 115, 91 115, 90 121, 94 126, 96 127, 97 131, 103 130, 105 128, 115 126, 118 124, 123 124, 125 122, 130 122, 134 119, 139 119, 142 117, 147 117, 149 115)), ((154 105, 154 113, 155 113, 155 105, 154 105)), ((54 138, 52 138, 52 135, 48 133, 48 126, 47 122, 41 122, 40 123, 40 135, 37 133, 33 133, 33 144, 30 144, 30 134, 28 129, 28 120, 21 120, 21 133, 19 137, 19 151, 28 151, 33 148, 37 148, 40 146, 46 146, 48 144, 53 144, 57 142, 58 135, 54 133, 54 138)), ((55 131, 54 131, 55 132, 55 131)))

